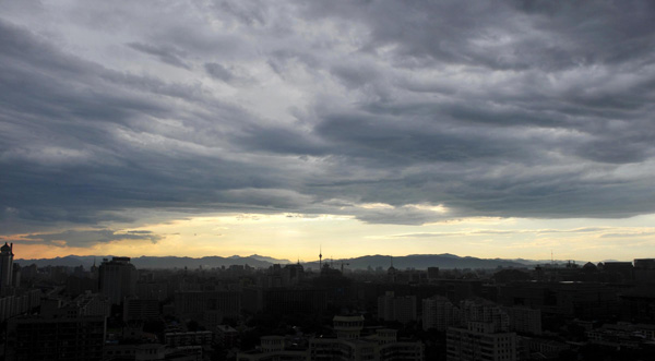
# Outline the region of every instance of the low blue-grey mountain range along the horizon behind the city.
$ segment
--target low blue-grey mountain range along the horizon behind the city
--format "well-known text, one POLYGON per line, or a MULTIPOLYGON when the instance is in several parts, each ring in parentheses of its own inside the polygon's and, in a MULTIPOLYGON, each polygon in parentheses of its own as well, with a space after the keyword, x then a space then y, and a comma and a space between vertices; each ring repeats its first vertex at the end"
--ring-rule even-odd
MULTIPOLYGON (((68 255, 66 257, 57 258, 40 258, 40 260, 15 260, 21 266, 36 264, 39 267, 47 265, 52 266, 70 266, 76 267, 83 265, 88 268, 93 265, 94 260, 96 265, 103 262, 103 258, 111 258, 111 256, 79 256, 68 255)), ((391 256, 389 255, 365 255, 355 258, 344 260, 325 260, 323 263, 331 263, 334 267, 340 268, 342 262, 345 267, 350 269, 366 269, 369 266, 372 268, 382 267, 389 268, 391 265, 391 256), (346 265, 347 264, 347 265, 346 265)), ((291 263, 289 260, 278 260, 259 254, 252 254, 249 256, 233 255, 229 257, 221 256, 206 256, 200 258, 193 257, 177 257, 177 256, 141 256, 133 257, 132 263, 138 268, 183 268, 188 267, 191 269, 202 266, 203 268, 230 266, 230 265, 249 265, 251 267, 270 267, 273 264, 288 264, 291 263)), ((410 254, 406 256, 394 256, 393 266, 398 269, 405 269, 414 267, 416 269, 426 269, 428 267, 439 267, 442 269, 452 268, 497 268, 501 267, 534 267, 536 264, 550 263, 550 261, 533 261, 533 260, 502 260, 502 258, 477 258, 443 253, 443 254, 410 254)), ((565 263, 565 261, 556 261, 556 263, 565 263)), ((586 261, 576 261, 577 264, 583 265, 586 261)), ((301 262, 306 267, 313 269, 319 268, 319 262, 301 262)))

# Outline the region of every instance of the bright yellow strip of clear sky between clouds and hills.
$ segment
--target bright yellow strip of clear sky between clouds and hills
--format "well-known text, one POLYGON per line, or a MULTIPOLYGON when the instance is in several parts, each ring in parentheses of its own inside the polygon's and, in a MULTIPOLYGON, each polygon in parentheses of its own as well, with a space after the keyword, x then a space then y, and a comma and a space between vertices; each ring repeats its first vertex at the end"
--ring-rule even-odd
MULTIPOLYGON (((117 240, 71 246, 66 240, 43 243, 38 233, 2 236, 16 241, 16 258, 76 255, 124 256, 247 256, 314 261, 323 256, 357 257, 367 254, 452 253, 477 257, 602 261, 655 256, 655 216, 639 219, 535 220, 522 218, 462 218, 430 225, 367 224, 353 216, 302 214, 221 214, 163 219, 147 225, 114 229, 117 240), (120 239, 148 231, 160 239, 120 239), (28 238, 29 237, 29 238, 28 238)), ((130 226, 130 227, 127 227, 130 226)), ((81 229, 90 230, 90 229, 81 229)), ((76 243, 78 244, 78 243, 76 243)))

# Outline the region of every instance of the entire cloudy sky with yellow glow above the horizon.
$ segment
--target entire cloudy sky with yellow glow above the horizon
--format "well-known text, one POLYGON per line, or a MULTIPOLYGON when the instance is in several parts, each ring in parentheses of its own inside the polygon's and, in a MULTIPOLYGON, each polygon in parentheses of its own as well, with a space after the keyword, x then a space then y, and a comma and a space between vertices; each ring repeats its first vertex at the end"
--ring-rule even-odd
POLYGON ((17 258, 655 257, 652 1, 2 1, 17 258))

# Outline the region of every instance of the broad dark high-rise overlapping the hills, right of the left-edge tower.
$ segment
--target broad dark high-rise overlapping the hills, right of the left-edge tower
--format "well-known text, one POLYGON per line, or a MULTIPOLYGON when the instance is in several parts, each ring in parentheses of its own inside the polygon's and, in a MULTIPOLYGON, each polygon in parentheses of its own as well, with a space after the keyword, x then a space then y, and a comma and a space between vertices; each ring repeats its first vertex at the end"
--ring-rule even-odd
POLYGON ((112 304, 122 303, 126 297, 136 293, 136 267, 130 257, 105 260, 99 267, 99 290, 112 304))

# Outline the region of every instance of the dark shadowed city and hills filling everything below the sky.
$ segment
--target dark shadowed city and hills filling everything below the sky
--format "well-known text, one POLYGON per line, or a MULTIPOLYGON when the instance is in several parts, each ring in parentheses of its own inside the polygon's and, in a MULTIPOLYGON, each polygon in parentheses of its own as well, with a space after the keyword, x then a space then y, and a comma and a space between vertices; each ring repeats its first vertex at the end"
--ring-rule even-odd
POLYGON ((327 260, 319 254, 318 262, 306 264, 252 255, 178 261, 203 262, 192 267, 167 266, 176 257, 151 257, 151 264, 162 262, 142 268, 121 256, 93 257, 91 266, 82 264, 84 257, 37 260, 37 265, 14 256, 13 244, 1 248, 7 360, 647 360, 655 354, 655 258, 523 260, 522 265, 442 254, 395 257, 394 266, 394 257, 381 255, 327 260), (409 266, 417 257, 424 262, 409 266), (383 261, 388 265, 380 266, 383 261), (80 265, 61 265, 75 262, 80 265), (433 265, 425 267, 426 262, 433 265))

